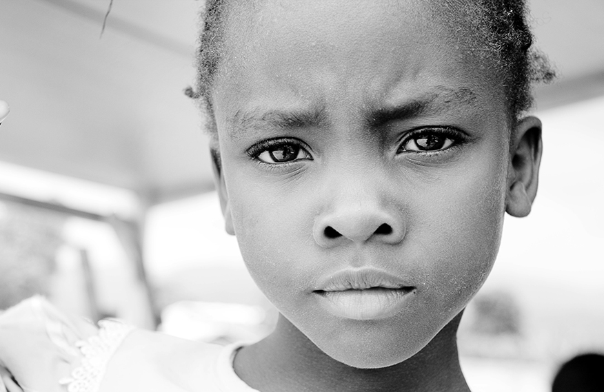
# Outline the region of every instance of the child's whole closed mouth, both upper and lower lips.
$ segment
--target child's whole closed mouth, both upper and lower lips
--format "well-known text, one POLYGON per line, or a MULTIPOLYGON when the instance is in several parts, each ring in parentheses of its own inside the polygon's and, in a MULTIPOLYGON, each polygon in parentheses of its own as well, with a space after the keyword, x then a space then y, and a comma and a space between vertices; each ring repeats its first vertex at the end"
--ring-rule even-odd
POLYGON ((399 313, 416 287, 380 269, 344 269, 321 280, 313 291, 334 316, 377 320, 399 313))

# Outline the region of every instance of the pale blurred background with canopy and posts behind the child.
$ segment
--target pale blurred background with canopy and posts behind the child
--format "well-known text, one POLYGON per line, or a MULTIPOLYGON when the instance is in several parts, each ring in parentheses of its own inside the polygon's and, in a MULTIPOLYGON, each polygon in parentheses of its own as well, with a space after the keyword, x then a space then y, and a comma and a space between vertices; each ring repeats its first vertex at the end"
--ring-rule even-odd
MULTIPOLYGON (((474 391, 545 392, 604 352, 604 3, 530 0, 558 81, 536 89, 540 189, 507 217, 459 332, 474 391)), ((276 312, 223 231, 194 83, 203 1, 0 0, 0 309, 33 293, 226 343, 276 312)))

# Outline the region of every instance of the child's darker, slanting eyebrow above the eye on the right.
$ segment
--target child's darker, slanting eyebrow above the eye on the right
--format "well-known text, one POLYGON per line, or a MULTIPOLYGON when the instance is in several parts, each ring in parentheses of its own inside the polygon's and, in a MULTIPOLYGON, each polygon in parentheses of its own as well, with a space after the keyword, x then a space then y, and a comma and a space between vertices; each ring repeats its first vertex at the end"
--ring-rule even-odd
POLYGON ((421 99, 414 99, 400 105, 380 107, 372 110, 367 116, 368 125, 370 127, 380 127, 391 121, 405 120, 419 116, 427 112, 427 110, 443 112, 449 110, 452 105, 459 103, 471 105, 476 101, 476 93, 468 87, 450 88, 437 86, 435 90, 426 94, 421 99))

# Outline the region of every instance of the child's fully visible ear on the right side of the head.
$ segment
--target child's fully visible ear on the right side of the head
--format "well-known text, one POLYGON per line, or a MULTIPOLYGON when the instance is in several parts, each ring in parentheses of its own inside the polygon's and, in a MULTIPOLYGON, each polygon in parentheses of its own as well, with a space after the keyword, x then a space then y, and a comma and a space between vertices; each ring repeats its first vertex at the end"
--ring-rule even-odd
POLYGON ((537 194, 541 163, 541 121, 533 116, 516 124, 510 141, 505 211, 522 218, 531 212, 537 194))

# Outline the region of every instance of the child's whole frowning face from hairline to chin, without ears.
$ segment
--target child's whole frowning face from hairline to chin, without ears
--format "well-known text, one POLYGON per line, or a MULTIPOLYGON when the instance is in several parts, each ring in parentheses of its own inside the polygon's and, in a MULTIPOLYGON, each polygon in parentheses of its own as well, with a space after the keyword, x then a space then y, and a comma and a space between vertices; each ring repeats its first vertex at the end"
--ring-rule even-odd
POLYGON ((422 3, 237 10, 214 85, 228 229, 283 316, 354 367, 424 347, 499 247, 503 92, 422 3))

